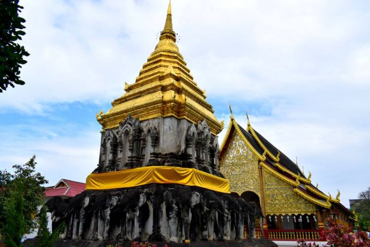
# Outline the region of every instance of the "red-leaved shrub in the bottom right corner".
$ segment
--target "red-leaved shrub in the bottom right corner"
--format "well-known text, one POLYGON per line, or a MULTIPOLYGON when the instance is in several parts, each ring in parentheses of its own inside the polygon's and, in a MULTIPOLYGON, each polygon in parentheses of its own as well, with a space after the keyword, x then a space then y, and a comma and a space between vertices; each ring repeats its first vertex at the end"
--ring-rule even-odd
POLYGON ((345 231, 342 225, 335 223, 330 218, 326 220, 326 226, 328 245, 334 247, 366 247, 370 245, 367 234, 360 229, 358 229, 357 233, 345 231))

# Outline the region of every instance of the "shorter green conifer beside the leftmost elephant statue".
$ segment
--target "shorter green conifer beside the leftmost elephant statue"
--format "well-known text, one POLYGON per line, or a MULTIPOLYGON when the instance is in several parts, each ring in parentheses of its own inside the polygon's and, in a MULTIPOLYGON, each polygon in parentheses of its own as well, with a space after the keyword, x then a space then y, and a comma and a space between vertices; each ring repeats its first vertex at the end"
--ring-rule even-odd
POLYGON ((41 207, 38 215, 39 216, 38 216, 37 238, 39 240, 37 242, 37 246, 38 247, 54 246, 54 243, 57 240, 61 230, 65 228, 65 224, 60 225, 56 231, 50 233, 49 229, 47 229, 47 216, 45 206, 41 207))

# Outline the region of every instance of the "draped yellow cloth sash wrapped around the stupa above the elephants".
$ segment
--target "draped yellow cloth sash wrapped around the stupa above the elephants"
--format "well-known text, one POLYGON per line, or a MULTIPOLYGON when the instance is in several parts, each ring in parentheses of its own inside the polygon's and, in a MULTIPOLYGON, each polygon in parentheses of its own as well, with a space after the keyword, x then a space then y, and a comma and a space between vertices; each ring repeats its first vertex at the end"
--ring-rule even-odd
POLYGON ((176 166, 145 166, 127 170, 91 173, 86 178, 86 190, 128 188, 150 183, 174 183, 230 193, 230 182, 227 179, 194 168, 176 166))

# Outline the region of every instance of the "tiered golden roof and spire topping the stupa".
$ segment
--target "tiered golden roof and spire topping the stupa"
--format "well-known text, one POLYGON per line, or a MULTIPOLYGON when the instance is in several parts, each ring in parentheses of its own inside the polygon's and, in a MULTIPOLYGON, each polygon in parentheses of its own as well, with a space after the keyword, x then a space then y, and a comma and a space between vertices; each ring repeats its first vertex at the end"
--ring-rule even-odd
POLYGON ((107 113, 97 115, 103 129, 117 127, 130 114, 140 121, 174 116, 198 124, 205 119, 214 134, 222 130, 212 106, 205 100, 205 91, 193 81, 176 45, 171 2, 154 51, 143 65, 136 82, 125 84, 125 91, 111 103, 112 108, 107 113))

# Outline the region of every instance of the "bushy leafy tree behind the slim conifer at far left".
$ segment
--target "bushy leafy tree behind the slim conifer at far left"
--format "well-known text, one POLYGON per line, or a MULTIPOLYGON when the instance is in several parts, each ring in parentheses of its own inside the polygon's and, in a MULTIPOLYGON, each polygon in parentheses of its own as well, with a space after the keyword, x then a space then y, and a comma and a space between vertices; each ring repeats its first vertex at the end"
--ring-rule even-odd
POLYGON ((37 227, 35 215, 37 206, 43 204, 45 188, 42 185, 47 183, 47 180, 35 171, 37 165, 35 159, 36 156, 33 156, 25 165, 13 165, 14 173, 7 170, 0 171, 0 231, 3 233, 5 233, 7 211, 12 207, 13 195, 19 186, 23 187, 24 206, 18 213, 23 214, 25 233, 30 233, 37 227))

